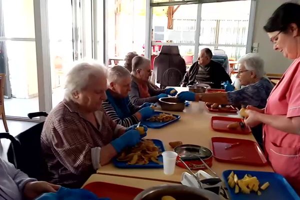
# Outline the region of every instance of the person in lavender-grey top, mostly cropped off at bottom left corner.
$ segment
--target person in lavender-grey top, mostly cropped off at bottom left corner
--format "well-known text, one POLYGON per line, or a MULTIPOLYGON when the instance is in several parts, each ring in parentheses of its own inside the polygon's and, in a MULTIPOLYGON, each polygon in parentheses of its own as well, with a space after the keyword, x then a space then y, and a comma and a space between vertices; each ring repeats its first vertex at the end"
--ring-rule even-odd
POLYGON ((35 199, 42 193, 56 192, 59 185, 29 178, 13 164, 0 158, 0 199, 35 199))

